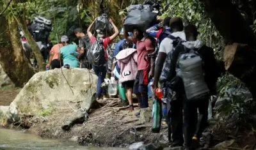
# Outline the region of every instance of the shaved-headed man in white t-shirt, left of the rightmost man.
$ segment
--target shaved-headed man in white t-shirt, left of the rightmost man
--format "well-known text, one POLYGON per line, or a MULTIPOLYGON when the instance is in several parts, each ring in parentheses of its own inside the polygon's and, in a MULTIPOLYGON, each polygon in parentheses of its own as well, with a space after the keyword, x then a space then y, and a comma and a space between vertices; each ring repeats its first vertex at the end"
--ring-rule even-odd
MULTIPOLYGON (((155 71, 154 71, 154 89, 158 87, 159 78, 161 76, 161 72, 163 70, 164 62, 166 60, 166 56, 169 52, 173 51, 173 38, 180 38, 180 40, 186 40, 185 33, 183 32, 184 26, 182 19, 179 17, 173 17, 170 19, 170 28, 172 29, 172 34, 170 34, 167 38, 161 42, 159 47, 159 52, 156 59, 155 71)), ((167 103, 171 103, 168 108, 168 112, 172 112, 170 114, 171 121, 168 124, 168 132, 170 133, 170 126, 172 126, 172 141, 170 141, 170 134, 169 134, 169 141, 172 142, 173 147, 181 147, 183 146, 183 116, 182 116, 182 102, 179 100, 166 101, 167 103)))

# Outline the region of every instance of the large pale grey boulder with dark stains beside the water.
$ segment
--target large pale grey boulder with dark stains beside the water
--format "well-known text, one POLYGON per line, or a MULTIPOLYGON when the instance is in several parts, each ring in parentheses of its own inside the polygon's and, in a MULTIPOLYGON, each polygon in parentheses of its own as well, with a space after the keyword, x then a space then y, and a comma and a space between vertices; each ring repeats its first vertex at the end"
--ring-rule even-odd
POLYGON ((16 123, 24 114, 51 116, 63 110, 76 111, 80 107, 87 111, 94 102, 92 96, 96 86, 97 76, 86 69, 42 71, 23 87, 6 111, 10 114, 5 116, 9 116, 11 123, 16 123))

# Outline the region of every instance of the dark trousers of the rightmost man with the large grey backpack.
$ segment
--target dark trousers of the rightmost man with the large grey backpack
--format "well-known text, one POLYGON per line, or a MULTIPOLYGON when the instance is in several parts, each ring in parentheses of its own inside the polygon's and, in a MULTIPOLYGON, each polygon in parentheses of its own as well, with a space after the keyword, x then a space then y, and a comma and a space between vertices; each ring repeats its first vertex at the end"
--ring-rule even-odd
POLYGON ((183 95, 182 97, 184 100, 184 137, 186 147, 189 149, 191 148, 192 137, 196 136, 199 139, 207 126, 209 99, 188 101, 186 96, 183 95))

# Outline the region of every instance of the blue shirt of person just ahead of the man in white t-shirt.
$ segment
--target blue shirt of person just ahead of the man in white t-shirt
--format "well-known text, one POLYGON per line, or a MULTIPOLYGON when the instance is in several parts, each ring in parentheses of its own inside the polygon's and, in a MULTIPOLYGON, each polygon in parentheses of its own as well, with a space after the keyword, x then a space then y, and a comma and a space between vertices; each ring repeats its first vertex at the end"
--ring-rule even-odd
MULTIPOLYGON (((158 31, 159 31, 159 24, 155 24, 154 26, 148 28, 146 33, 148 33, 153 38, 156 38, 158 31)), ((167 27, 166 29, 163 30, 163 33, 161 33, 159 36, 159 45, 160 45, 161 41, 163 41, 164 38, 166 38, 171 32, 172 32, 172 30, 170 27, 167 27)))

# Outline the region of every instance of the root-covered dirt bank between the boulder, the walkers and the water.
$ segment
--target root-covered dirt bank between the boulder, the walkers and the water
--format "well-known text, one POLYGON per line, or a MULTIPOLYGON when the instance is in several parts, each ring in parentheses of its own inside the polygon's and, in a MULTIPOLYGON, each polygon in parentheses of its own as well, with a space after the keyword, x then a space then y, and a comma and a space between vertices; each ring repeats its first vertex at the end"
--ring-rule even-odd
POLYGON ((65 110, 44 119, 44 123, 36 121, 29 131, 45 138, 74 140, 81 145, 126 147, 140 141, 162 144, 168 142, 167 126, 162 126, 160 133, 152 133, 152 123, 138 124, 139 119, 135 116, 138 108, 133 111, 118 110, 119 108, 102 107, 91 110, 87 121, 76 124, 68 131, 60 128, 72 112, 71 109, 65 110))

